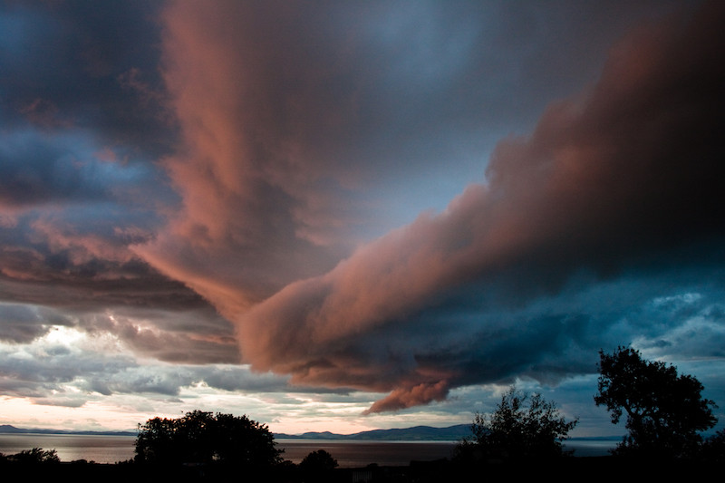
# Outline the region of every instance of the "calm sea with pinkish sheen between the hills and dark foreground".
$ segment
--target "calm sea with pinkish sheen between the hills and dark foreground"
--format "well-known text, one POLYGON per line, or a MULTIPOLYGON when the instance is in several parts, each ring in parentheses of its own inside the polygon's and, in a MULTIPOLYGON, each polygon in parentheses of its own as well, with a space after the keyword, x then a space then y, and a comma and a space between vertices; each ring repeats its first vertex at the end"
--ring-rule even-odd
MULTIPOLYGON (((0 434, 0 453, 12 455, 24 449, 55 449, 64 462, 86 460, 118 463, 133 459, 134 436, 77 434, 0 434)), ((371 440, 275 440, 284 449, 283 458, 299 463, 312 451, 324 449, 340 468, 406 466, 411 461, 432 461, 451 456, 456 441, 371 441, 371 440)), ((566 442, 574 456, 604 456, 617 441, 576 439, 566 442)))

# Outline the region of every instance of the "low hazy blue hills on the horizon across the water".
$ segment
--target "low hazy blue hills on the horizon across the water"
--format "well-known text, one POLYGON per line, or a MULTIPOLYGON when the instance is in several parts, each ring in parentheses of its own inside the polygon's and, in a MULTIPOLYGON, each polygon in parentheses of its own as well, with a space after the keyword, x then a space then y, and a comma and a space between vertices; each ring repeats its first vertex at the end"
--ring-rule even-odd
MULTIPOLYGON (((136 436, 136 431, 68 431, 68 430, 25 430, 9 424, 0 425, 5 434, 78 434, 98 436, 136 436)), ((470 424, 458 424, 448 428, 415 426, 399 430, 370 430, 353 434, 336 434, 329 431, 305 432, 303 434, 275 433, 277 440, 371 440, 371 441, 456 441, 470 435, 470 424)))

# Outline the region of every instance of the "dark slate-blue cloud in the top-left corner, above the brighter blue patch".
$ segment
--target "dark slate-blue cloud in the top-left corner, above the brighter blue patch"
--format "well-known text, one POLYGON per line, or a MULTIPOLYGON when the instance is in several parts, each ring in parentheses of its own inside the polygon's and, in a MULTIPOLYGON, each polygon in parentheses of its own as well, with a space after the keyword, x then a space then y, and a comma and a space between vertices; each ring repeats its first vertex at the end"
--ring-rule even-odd
POLYGON ((160 92, 158 6, 5 3, 0 120, 90 129, 137 157, 160 155, 169 133, 159 102, 149 101, 160 92))

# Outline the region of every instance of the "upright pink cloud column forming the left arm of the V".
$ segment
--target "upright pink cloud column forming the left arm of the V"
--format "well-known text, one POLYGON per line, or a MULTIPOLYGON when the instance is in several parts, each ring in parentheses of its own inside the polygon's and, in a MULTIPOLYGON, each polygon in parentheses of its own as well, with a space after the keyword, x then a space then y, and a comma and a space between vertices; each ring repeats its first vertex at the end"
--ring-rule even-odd
POLYGON ((277 7, 174 2, 163 15, 184 140, 163 165, 183 208, 137 251, 229 311, 329 269, 357 222, 340 195, 355 188, 355 170, 329 148, 353 102, 330 92, 335 72, 295 42, 314 26, 277 7))

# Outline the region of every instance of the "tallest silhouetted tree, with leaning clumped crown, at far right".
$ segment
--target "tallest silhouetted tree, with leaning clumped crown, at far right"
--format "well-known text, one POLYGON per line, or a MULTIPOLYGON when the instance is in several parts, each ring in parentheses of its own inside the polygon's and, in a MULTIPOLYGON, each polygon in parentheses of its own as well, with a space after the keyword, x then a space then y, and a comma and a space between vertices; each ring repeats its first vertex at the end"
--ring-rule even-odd
POLYGON ((613 354, 599 352, 597 406, 610 411, 618 423, 623 413, 629 434, 615 455, 648 458, 687 458, 700 449, 699 431, 717 419, 713 401, 703 399, 702 384, 690 375, 678 375, 672 365, 643 360, 639 351, 618 347, 613 354))

